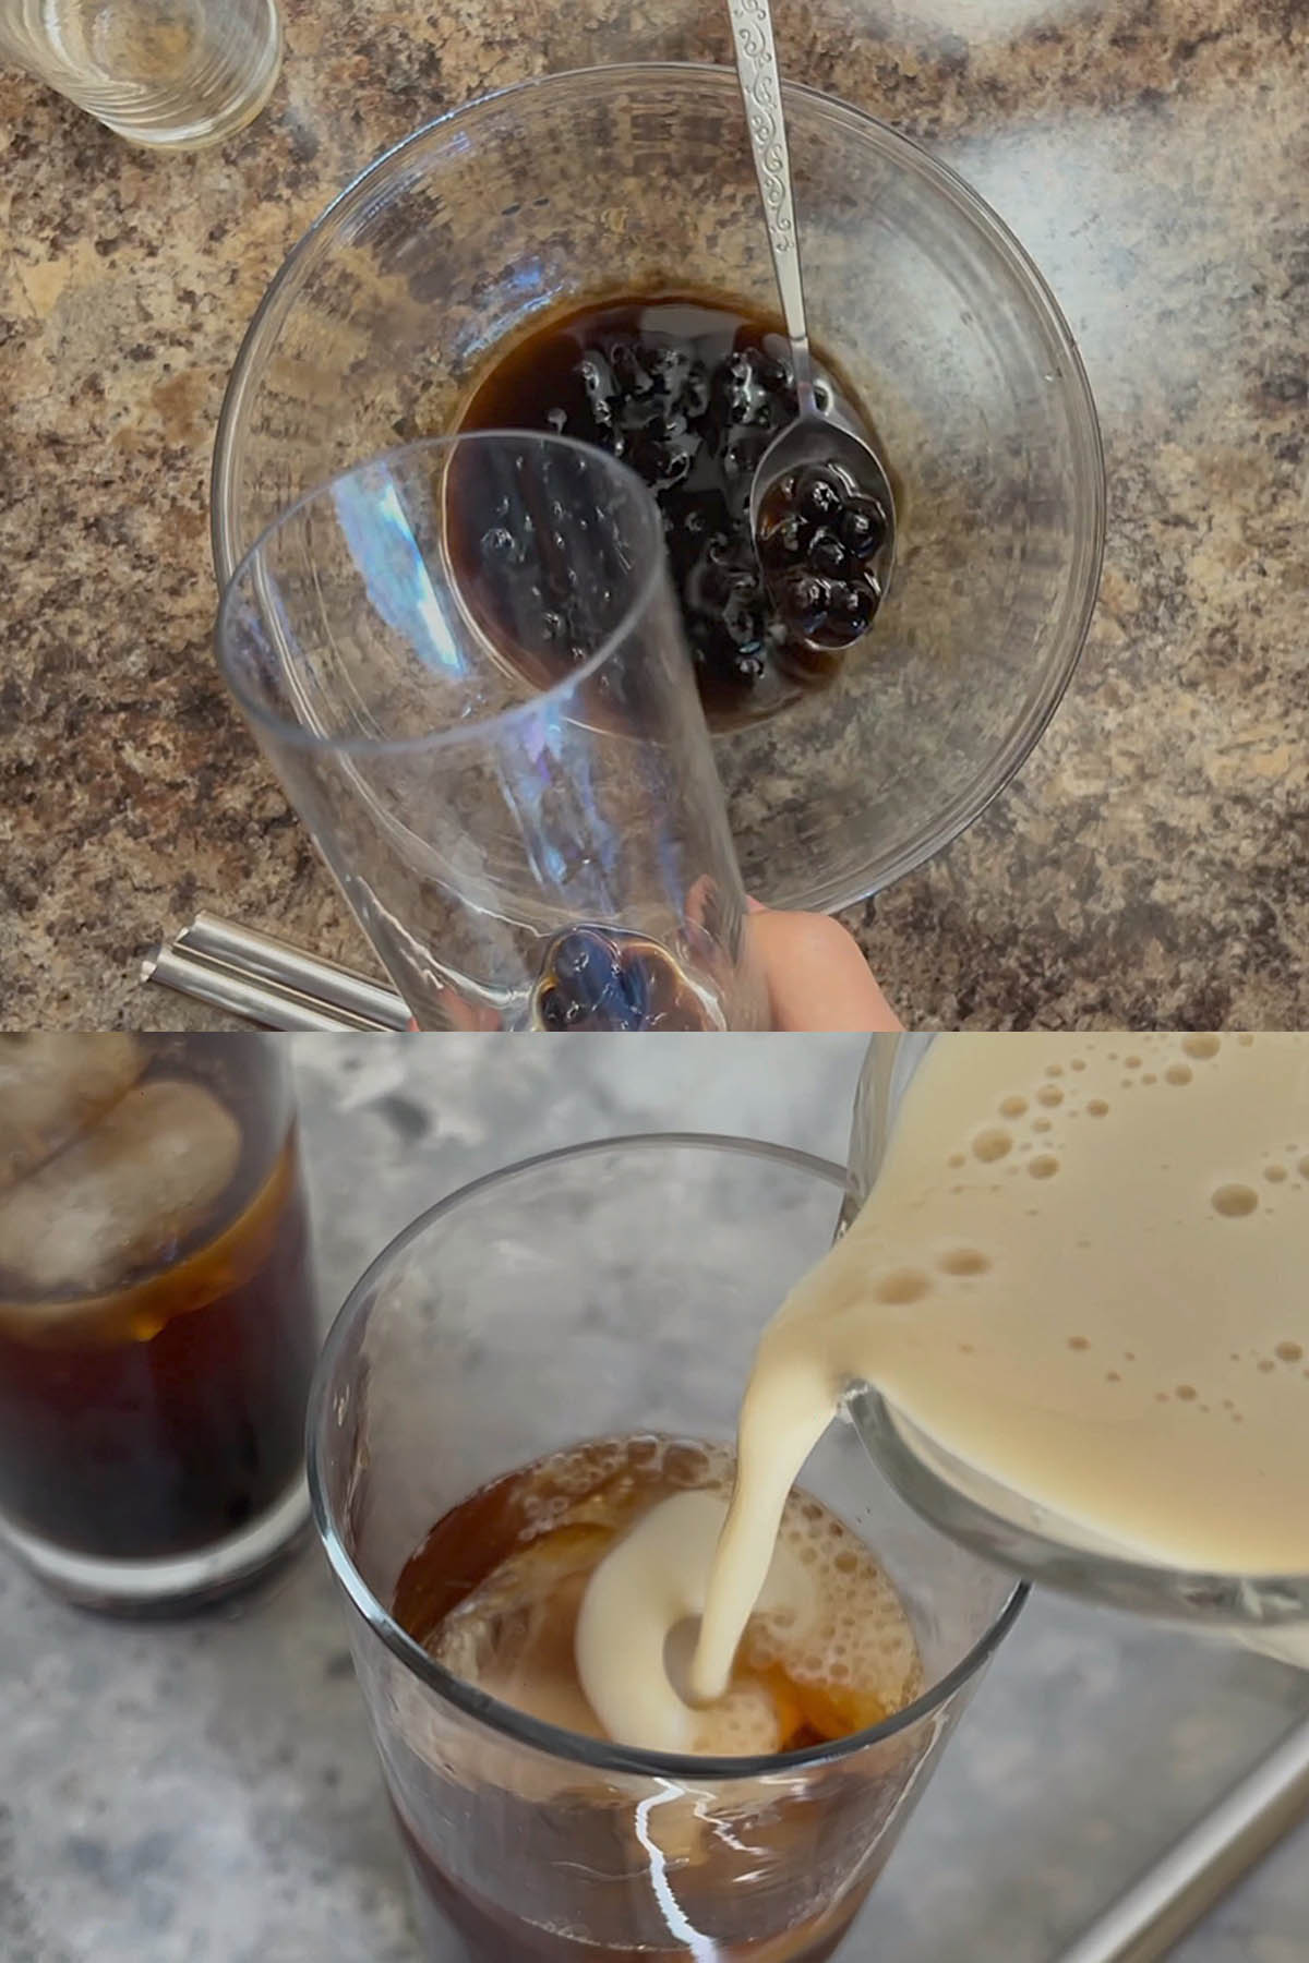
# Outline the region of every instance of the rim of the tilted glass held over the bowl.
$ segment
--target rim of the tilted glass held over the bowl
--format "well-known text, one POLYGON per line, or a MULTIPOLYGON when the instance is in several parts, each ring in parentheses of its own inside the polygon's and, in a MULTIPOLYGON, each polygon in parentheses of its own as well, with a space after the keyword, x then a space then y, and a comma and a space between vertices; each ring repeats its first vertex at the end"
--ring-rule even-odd
POLYGON ((365 457, 359 463, 351 463, 343 471, 336 471, 334 477, 312 485, 292 504, 288 504, 287 510, 281 510, 269 524, 265 524, 259 538, 234 567, 232 579, 224 585, 214 622, 214 656, 241 715, 288 750, 359 758, 420 756, 436 750, 455 750, 461 744, 493 740, 498 730, 516 728, 518 722, 528 722, 542 713, 557 709, 577 687, 591 681, 632 636, 636 622, 648 612, 663 579, 663 526, 659 520, 659 506, 655 504, 654 493, 646 483, 642 483, 630 465, 622 463, 618 457, 610 457, 608 451, 601 450, 597 444, 581 444, 573 436, 559 436, 550 430, 449 430, 444 436, 422 436, 408 444, 396 444, 391 450, 379 451, 375 457, 365 457), (422 736, 322 736, 316 730, 306 728, 302 722, 294 722, 269 711, 236 671, 232 656, 237 644, 234 628, 237 603, 243 601, 251 589, 257 593, 265 550, 277 534, 290 526, 310 506, 332 501, 341 485, 351 483, 353 479, 363 479, 373 471, 389 471, 394 465, 420 455, 489 450, 508 442, 528 444, 534 450, 571 451, 593 467, 599 463, 616 485, 626 489, 628 499, 634 499, 640 522, 650 532, 648 565, 640 573, 622 616, 601 638, 595 652, 589 654, 585 662, 569 667, 559 681, 551 681, 546 689, 536 689, 510 709, 497 709, 493 715, 473 716, 467 722, 455 722, 449 728, 430 730, 422 736))

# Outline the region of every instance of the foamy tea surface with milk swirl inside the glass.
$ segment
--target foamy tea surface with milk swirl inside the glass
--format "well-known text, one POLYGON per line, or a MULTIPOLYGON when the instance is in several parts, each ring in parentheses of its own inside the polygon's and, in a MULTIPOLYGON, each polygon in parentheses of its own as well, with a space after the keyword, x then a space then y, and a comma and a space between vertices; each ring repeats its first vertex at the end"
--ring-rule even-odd
POLYGON ((671 1688, 669 1671, 685 1676, 691 1657, 730 1484, 720 1447, 636 1437, 555 1453, 434 1527, 400 1576, 396 1619, 479 1690, 624 1745, 769 1755, 913 1702, 918 1653, 891 1582, 803 1492, 785 1510, 724 1696, 693 1710, 671 1688), (634 1572, 659 1576, 657 1629, 640 1612, 646 1594, 624 1612, 634 1572))

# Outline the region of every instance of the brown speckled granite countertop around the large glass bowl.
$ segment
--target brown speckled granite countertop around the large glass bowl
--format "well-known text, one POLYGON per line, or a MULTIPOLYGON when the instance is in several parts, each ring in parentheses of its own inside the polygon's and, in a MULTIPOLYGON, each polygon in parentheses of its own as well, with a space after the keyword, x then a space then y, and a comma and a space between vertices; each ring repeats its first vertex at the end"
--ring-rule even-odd
MULTIPOLYGON (((852 911, 920 1025, 1309 1023, 1301 0, 809 0, 791 75, 964 171, 1081 344, 1111 526, 1007 795, 852 911)), ((208 650, 224 377, 387 143, 530 73, 724 59, 716 8, 290 0, 269 112, 151 159, 0 73, 0 1021, 208 1025, 137 962, 196 905, 359 940, 208 650)))

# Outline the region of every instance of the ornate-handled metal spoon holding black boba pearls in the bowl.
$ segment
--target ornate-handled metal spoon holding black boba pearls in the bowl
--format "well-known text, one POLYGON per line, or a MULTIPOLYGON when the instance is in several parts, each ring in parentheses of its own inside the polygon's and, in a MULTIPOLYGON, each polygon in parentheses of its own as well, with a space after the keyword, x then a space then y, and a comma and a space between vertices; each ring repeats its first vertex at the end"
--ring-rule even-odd
POLYGON ((891 577, 895 501, 877 451, 814 391, 769 0, 728 0, 728 14, 797 398, 795 422, 756 465, 750 530, 791 634, 818 650, 848 648, 871 626, 891 577))

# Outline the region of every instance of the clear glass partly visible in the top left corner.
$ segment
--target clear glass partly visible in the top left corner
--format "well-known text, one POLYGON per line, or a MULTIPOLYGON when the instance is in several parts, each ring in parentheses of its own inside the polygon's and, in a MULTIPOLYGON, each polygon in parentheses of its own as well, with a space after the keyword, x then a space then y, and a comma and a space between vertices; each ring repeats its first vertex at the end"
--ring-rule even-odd
POLYGON ((0 59, 128 143, 202 149, 269 100, 283 18, 277 0, 0 0, 0 59))

